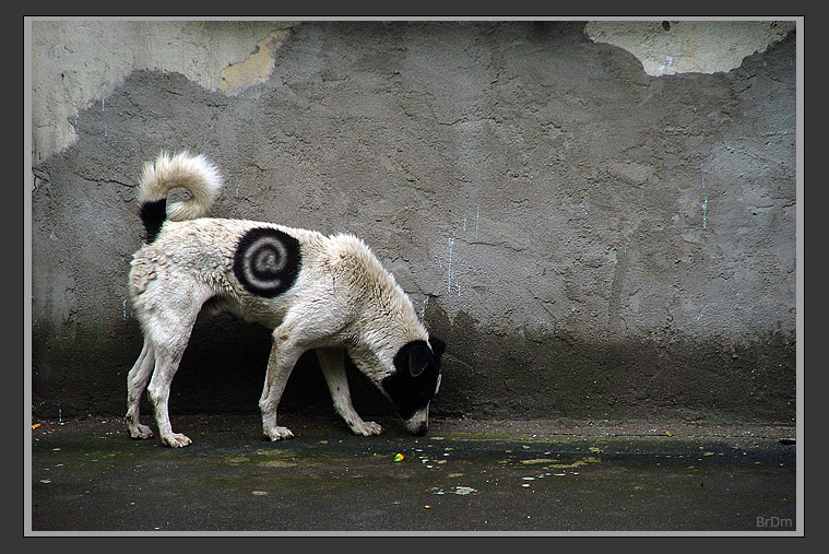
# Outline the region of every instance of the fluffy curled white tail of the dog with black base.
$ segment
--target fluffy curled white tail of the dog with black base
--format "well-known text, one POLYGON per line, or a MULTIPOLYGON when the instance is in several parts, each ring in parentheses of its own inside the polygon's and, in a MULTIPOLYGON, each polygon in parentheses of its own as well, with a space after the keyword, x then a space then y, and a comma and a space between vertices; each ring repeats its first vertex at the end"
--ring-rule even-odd
POLYGON ((194 220, 208 213, 221 188, 218 169, 203 155, 179 152, 170 156, 162 152, 155 162, 144 164, 139 201, 146 241, 155 240, 167 219, 194 220), (167 193, 177 187, 187 189, 190 198, 174 202, 167 209, 167 193))

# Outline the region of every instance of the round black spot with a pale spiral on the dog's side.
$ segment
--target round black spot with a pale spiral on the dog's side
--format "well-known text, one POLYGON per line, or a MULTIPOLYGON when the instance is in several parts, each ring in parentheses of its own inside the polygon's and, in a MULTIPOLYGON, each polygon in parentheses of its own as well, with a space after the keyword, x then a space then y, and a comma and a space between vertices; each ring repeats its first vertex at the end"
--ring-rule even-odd
POLYGON ((280 229, 256 227, 239 239, 233 272, 247 291, 273 298, 294 285, 300 266, 299 240, 280 229))

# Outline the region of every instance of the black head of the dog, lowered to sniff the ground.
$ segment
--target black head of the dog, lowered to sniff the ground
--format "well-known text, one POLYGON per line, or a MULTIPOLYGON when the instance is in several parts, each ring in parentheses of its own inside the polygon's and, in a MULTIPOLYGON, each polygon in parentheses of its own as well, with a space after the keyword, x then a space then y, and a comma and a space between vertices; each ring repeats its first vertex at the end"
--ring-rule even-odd
POLYGON ((413 435, 429 428, 429 401, 440 388, 440 356, 446 343, 437 337, 412 341, 394 355, 394 372, 382 380, 382 389, 394 402, 413 435))

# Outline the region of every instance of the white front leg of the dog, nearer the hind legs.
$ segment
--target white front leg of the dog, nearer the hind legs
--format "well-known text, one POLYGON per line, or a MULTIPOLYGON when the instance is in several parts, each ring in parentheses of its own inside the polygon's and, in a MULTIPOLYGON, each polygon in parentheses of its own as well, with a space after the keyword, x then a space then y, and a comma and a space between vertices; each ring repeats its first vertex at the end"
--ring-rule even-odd
POLYGON ((268 374, 265 375, 264 389, 259 399, 259 409, 262 411, 262 429, 271 440, 291 438, 294 434, 287 427, 276 425, 276 406, 280 403, 285 385, 296 361, 303 353, 298 344, 289 333, 277 327, 273 332, 271 356, 268 358, 268 374))

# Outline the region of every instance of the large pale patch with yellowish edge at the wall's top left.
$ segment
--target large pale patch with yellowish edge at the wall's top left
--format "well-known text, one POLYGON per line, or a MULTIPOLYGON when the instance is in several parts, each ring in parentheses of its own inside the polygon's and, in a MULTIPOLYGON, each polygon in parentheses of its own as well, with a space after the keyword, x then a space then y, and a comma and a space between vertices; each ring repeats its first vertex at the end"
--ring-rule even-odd
MULTIPOLYGON (((275 49, 297 24, 295 21, 32 22, 29 54, 32 60, 37 60, 32 64, 33 162, 74 144, 79 111, 111 94, 133 71, 178 72, 209 91, 216 91, 223 85, 222 71, 228 64, 245 63, 245 56, 262 36, 270 39, 267 47, 275 49)), ((253 56, 260 50, 261 47, 254 50, 253 56)), ((102 103, 102 110, 104 107, 102 103)))

